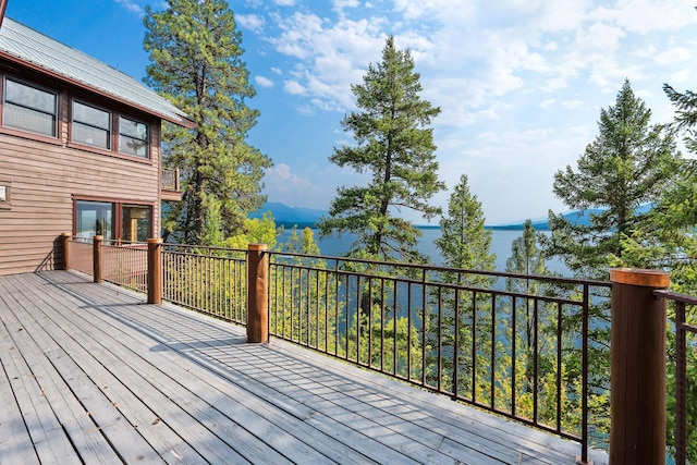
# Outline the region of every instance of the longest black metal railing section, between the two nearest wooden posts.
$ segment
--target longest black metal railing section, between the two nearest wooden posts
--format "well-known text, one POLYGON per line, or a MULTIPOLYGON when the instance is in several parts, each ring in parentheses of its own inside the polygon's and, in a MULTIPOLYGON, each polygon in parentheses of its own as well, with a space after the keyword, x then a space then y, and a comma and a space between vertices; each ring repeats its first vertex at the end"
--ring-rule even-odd
POLYGON ((272 335, 576 440, 587 460, 588 399, 609 388, 588 370, 609 282, 268 254, 272 335), (579 389, 564 391, 574 357, 579 389))

